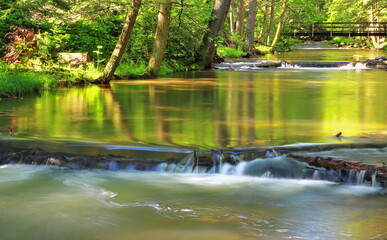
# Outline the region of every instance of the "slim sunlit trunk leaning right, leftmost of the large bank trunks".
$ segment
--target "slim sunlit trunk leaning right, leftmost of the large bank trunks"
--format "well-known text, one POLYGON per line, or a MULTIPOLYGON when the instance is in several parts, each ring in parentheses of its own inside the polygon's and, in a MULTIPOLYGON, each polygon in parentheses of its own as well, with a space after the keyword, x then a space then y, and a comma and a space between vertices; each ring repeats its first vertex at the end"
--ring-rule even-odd
POLYGON ((133 0, 131 9, 126 16, 125 24, 122 27, 121 35, 118 38, 116 47, 113 50, 113 53, 110 57, 109 62, 106 64, 100 80, 103 83, 108 83, 113 77, 114 72, 116 71, 118 64, 121 61, 122 55, 124 55, 126 45, 130 39, 134 23, 138 15, 138 10, 141 6, 141 0, 133 0))

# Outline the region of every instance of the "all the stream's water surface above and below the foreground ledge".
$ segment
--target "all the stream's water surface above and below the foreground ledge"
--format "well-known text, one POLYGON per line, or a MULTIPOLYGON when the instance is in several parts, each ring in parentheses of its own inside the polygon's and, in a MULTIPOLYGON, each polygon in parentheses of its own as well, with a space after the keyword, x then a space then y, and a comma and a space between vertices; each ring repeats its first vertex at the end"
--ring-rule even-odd
MULTIPOLYGON (((313 47, 269 58, 352 61, 353 55, 387 54, 313 47)), ((271 68, 57 89, 1 100, 0 132, 12 126, 14 134, 0 136, 0 146, 83 154, 103 149, 145 158, 197 148, 385 147, 386 75, 361 68, 271 68), (334 137, 338 132, 342 137, 334 137)), ((380 163, 386 151, 336 153, 380 163)), ((387 198, 377 187, 154 170, 0 166, 1 239, 387 238, 387 198)))

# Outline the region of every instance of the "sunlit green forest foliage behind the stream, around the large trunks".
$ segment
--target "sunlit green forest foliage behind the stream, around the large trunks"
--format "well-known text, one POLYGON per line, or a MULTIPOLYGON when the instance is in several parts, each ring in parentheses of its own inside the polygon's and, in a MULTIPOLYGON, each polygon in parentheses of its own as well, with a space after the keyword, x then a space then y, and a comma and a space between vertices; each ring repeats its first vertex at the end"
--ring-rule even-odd
MULTIPOLYGON (((216 56, 250 57, 288 51, 299 40, 284 33, 310 31, 316 22, 387 21, 387 0, 0 0, 0 58, 4 60, 0 70, 39 71, 40 78, 47 79, 55 73, 67 83, 98 79, 136 2, 138 13, 120 64, 113 71, 115 78, 149 75, 150 60, 158 48, 163 48, 161 66, 151 71, 153 76, 208 67, 203 63, 206 57, 213 60, 203 51, 208 42, 216 48, 216 56), (218 32, 212 32, 220 7, 227 8, 221 16, 224 19, 218 32), (160 30, 160 14, 168 15, 164 30, 160 30), (161 47, 156 45, 160 38, 165 39, 161 47), (64 66, 57 59, 60 52, 87 52, 92 62, 64 66), (17 54, 10 58, 12 53, 17 54)), ((385 39, 379 39, 377 46, 370 38, 332 40, 341 45, 386 48, 385 39)), ((44 82, 57 82, 47 79, 44 82)), ((6 91, 2 89, 2 95, 12 95, 4 94, 6 91)))

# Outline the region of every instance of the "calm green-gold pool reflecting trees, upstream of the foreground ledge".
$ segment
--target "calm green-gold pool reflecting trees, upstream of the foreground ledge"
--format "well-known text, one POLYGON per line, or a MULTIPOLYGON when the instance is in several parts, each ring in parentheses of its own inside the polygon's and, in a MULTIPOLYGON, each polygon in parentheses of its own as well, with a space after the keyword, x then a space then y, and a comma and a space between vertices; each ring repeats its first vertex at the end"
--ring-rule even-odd
POLYGON ((235 147, 386 132, 386 72, 208 71, 1 101, 1 131, 120 144, 235 147))

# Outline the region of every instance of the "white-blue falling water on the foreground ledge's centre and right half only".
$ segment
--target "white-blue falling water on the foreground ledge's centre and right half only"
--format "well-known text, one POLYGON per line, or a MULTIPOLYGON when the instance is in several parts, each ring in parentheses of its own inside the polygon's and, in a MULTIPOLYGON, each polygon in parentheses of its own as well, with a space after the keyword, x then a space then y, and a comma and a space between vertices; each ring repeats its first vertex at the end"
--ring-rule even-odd
MULTIPOLYGON (((312 179, 326 180, 351 185, 372 185, 380 187, 376 181, 376 175, 371 180, 365 180, 366 170, 333 170, 316 168, 306 163, 299 162, 293 158, 279 155, 271 149, 265 150, 261 157, 254 160, 243 160, 243 154, 227 153, 220 150, 211 151, 207 161, 198 163, 194 154, 186 157, 180 163, 161 163, 160 167, 151 170, 165 171, 170 173, 196 173, 196 174, 220 174, 235 176, 256 176, 265 178, 289 178, 289 179, 312 179), (191 164, 187 166, 187 164, 191 164)), ((203 160, 203 159, 202 159, 203 160)), ((112 168, 114 168, 112 166, 112 168)))

